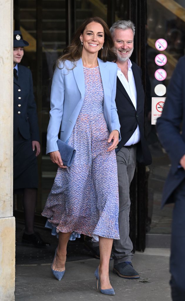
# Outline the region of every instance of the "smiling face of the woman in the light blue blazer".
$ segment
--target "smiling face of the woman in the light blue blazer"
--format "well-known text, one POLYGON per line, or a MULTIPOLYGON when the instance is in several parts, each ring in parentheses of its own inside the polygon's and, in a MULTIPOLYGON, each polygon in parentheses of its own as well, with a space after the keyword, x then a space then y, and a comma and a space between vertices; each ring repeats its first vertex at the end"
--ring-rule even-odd
POLYGON ((98 53, 104 43, 103 26, 97 22, 89 23, 80 35, 80 41, 83 42, 82 54, 98 53))

